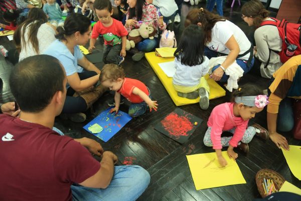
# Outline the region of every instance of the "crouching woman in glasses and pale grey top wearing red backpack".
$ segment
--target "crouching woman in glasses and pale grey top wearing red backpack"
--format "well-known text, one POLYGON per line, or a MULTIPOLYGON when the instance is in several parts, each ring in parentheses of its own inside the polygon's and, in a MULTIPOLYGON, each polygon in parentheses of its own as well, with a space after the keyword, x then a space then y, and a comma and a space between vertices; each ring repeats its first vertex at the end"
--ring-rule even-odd
POLYGON ((245 3, 241 8, 241 13, 241 18, 249 26, 255 26, 256 28, 254 33, 256 47, 254 47, 255 65, 253 70, 262 77, 271 78, 272 74, 282 65, 280 57, 276 53, 282 49, 282 40, 278 29, 272 25, 260 27, 263 21, 273 20, 268 17, 269 12, 265 10, 259 0, 245 3))

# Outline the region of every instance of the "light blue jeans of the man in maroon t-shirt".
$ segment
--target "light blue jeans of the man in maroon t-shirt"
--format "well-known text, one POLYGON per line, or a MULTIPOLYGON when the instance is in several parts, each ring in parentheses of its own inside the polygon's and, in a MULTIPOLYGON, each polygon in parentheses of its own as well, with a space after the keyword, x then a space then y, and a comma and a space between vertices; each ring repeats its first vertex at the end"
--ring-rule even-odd
POLYGON ((137 165, 115 166, 114 175, 105 189, 71 185, 73 201, 136 200, 150 181, 149 173, 137 165))

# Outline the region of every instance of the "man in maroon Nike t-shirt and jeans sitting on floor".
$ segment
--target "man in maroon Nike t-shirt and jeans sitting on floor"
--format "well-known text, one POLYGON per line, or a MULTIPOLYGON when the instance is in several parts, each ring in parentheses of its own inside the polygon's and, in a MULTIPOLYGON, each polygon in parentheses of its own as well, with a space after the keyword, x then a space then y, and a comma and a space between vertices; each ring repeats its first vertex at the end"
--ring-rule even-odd
POLYGON ((10 86, 21 113, 20 118, 0 116, 1 200, 134 200, 140 196, 149 183, 146 170, 114 166, 117 156, 96 141, 73 140, 52 130, 65 102, 67 83, 56 58, 28 57, 12 72, 10 86), (83 145, 101 155, 101 161, 83 145))

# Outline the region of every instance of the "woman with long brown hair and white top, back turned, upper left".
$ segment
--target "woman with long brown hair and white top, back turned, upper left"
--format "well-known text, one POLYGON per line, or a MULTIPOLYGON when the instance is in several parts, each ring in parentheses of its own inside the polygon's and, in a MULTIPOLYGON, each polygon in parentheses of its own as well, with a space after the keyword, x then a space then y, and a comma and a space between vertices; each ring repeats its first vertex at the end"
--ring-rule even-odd
POLYGON ((38 54, 43 54, 55 40, 55 27, 48 23, 42 9, 33 8, 28 18, 14 33, 14 42, 20 52, 19 61, 38 54))

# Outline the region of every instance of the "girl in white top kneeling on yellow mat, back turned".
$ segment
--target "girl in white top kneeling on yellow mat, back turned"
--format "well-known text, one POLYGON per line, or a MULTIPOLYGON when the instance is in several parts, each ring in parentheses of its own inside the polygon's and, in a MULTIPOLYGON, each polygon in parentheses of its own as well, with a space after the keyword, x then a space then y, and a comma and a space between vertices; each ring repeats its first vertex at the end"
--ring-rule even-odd
POLYGON ((195 99, 200 95, 200 107, 209 107, 209 85, 203 77, 209 70, 209 59, 204 56, 205 34, 197 25, 188 26, 182 33, 175 51, 176 73, 173 85, 178 95, 195 99))

